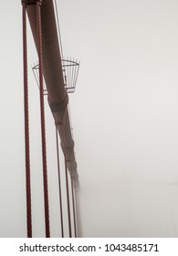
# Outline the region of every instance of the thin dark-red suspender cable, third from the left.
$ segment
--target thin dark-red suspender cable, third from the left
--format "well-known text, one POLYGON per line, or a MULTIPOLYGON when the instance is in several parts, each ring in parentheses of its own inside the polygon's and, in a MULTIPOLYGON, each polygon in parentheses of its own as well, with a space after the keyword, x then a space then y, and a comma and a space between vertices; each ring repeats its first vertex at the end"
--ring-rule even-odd
POLYGON ((58 152, 58 129, 57 129, 57 125, 56 125, 56 138, 57 138, 57 159, 58 159, 58 190, 59 190, 59 205, 60 205, 60 227, 61 227, 61 237, 64 238, 63 210, 62 210, 62 193, 61 193, 61 182, 60 182, 60 165, 59 165, 59 152, 58 152))

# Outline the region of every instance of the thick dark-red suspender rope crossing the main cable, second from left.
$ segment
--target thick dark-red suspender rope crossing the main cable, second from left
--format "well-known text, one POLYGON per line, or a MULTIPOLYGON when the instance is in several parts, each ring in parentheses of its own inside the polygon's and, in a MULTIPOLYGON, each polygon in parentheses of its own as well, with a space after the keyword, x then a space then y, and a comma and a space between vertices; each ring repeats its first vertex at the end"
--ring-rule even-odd
POLYGON ((39 91, 40 91, 40 110, 41 110, 41 136, 42 136, 42 157, 43 157, 43 181, 44 181, 44 200, 45 200, 45 223, 46 237, 50 237, 49 209, 48 209, 48 188, 47 188, 47 151, 46 151, 46 132, 45 132, 45 107, 43 95, 43 70, 42 70, 42 35, 41 35, 41 0, 37 0, 37 38, 38 38, 38 61, 39 61, 39 91))

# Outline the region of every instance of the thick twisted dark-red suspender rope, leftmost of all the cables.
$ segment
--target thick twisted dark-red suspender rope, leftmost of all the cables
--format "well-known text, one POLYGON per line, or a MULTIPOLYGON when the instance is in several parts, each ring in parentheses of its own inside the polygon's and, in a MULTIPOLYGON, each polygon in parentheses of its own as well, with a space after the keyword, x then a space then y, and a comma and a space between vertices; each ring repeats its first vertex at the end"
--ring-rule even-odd
POLYGON ((27 237, 32 238, 28 89, 27 89, 26 3, 24 1, 22 1, 22 10, 23 10, 23 55, 24 55, 24 113, 25 113, 25 144, 26 144, 26 222, 27 222, 27 237))

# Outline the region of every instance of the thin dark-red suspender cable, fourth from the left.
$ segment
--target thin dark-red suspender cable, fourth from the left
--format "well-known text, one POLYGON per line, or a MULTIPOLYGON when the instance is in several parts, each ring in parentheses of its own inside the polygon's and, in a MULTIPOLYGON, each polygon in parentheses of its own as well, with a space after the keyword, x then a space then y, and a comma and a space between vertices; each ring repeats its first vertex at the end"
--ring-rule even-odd
POLYGON ((66 141, 65 141, 65 130, 63 126, 63 150, 64 150, 64 161, 65 161, 65 175, 66 175, 66 193, 67 193, 67 204, 68 204, 68 233, 69 238, 72 237, 71 230, 71 219, 70 219, 70 203, 69 203, 69 189, 68 189, 68 166, 67 166, 67 157, 66 157, 66 141))

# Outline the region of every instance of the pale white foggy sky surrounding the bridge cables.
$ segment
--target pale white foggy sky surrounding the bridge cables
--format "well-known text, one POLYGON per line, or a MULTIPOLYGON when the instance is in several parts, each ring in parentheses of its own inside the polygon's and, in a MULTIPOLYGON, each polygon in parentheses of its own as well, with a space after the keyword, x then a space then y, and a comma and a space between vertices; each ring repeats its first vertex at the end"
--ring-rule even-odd
MULTIPOLYGON (((83 237, 178 236, 178 2, 58 0, 83 237)), ((26 237, 21 1, 0 9, 0 237, 26 237)), ((45 236, 37 61, 28 29, 33 228, 45 236)), ((47 109, 51 236, 60 236, 55 128, 47 109)), ((67 232, 67 231, 66 231, 67 232)))

